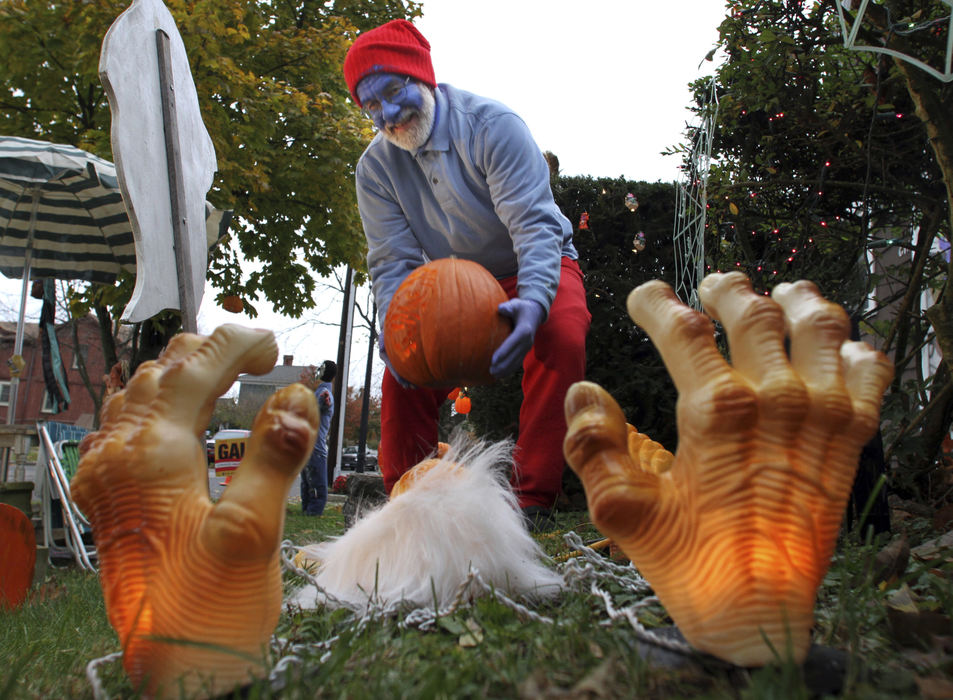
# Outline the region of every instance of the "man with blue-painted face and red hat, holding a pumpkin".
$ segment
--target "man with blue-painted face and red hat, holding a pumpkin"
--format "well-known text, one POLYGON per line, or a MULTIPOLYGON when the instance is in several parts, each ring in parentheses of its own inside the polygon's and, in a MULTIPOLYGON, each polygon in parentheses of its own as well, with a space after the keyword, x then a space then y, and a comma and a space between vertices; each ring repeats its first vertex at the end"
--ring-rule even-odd
MULTIPOLYGON (((355 102, 378 129, 357 164, 367 265, 383 320, 397 287, 429 260, 480 263, 509 301, 513 331, 490 372, 523 368, 513 488, 533 529, 552 526, 563 471, 563 399, 583 378, 590 315, 572 227, 553 201, 549 168, 529 129, 504 105, 437 84, 430 44, 394 20, 361 34, 344 61, 355 102)), ((383 327, 383 323, 381 323, 383 327)), ((391 487, 437 445, 452 387, 412 387, 387 360, 378 463, 391 487)))

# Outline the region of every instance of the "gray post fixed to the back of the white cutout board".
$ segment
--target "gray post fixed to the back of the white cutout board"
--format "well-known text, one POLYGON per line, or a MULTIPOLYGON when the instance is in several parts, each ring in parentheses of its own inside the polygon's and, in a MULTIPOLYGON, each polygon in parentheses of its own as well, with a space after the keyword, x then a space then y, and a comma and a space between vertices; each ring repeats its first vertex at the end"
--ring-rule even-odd
POLYGON ((195 290, 192 289, 192 256, 185 209, 185 183, 182 180, 182 153, 179 149, 179 127, 175 116, 172 54, 169 50, 169 35, 161 29, 156 29, 156 51, 159 58, 159 94, 162 97, 162 125, 165 130, 165 155, 169 171, 169 197, 172 204, 172 243, 175 250, 175 270, 179 278, 182 330, 186 333, 197 333, 195 290))

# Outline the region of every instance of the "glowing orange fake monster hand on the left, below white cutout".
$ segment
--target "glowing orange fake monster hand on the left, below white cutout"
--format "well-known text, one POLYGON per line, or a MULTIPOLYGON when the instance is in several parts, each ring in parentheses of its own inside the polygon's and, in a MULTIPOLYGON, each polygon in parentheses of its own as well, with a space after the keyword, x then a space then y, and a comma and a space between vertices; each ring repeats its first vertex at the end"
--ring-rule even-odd
POLYGON ((269 398, 214 505, 199 436, 238 374, 269 371, 277 354, 269 331, 180 334, 109 398, 81 445, 73 498, 93 524, 123 665, 147 696, 217 695, 264 669, 281 612, 285 499, 314 445, 314 396, 292 384, 269 398))

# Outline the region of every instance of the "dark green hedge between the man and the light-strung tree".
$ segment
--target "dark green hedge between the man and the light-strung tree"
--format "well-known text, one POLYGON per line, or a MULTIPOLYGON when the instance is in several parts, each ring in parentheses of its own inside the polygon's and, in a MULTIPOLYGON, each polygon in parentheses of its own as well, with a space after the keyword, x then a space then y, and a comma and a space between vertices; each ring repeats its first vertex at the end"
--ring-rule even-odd
MULTIPOLYGON (((648 280, 674 285, 675 186, 621 178, 558 177, 553 180, 553 194, 573 224, 592 313, 586 378, 612 394, 630 423, 674 450, 675 388, 651 341, 629 318, 626 298, 648 280), (626 206, 630 193, 639 204, 634 212, 626 206), (588 214, 588 225, 580 229, 583 213, 588 214), (645 247, 634 252, 639 232, 645 247)), ((515 437, 519 380, 517 375, 490 387, 470 389, 473 409, 465 427, 490 439, 515 437)), ((444 437, 461 422, 462 416, 451 417, 447 410, 444 437)))

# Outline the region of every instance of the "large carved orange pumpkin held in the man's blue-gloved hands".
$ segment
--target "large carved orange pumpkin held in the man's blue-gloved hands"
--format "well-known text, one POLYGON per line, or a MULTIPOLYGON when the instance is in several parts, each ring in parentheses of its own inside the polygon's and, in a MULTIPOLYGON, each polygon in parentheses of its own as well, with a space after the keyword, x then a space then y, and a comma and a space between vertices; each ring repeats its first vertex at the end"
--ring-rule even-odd
POLYGON ((387 356, 397 373, 422 387, 490 384, 490 360, 512 330, 497 312, 500 283, 470 260, 423 265, 394 293, 384 321, 387 356))

